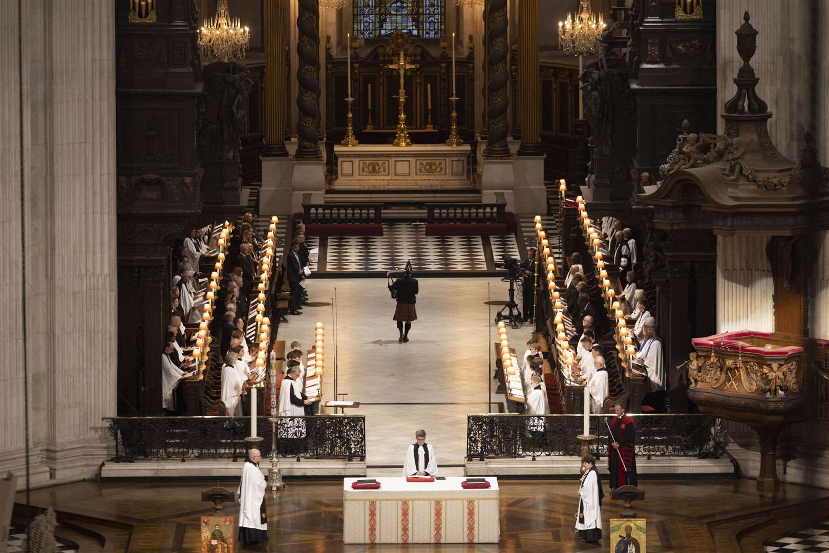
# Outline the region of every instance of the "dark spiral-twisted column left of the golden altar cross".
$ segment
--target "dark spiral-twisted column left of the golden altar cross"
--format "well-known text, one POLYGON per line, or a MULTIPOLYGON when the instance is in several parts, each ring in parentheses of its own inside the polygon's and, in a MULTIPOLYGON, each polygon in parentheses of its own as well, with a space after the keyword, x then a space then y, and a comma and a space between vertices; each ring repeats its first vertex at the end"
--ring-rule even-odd
MULTIPOLYGON (((506 0, 505 0, 506 2, 506 0)), ((299 144, 295 158, 319 159, 319 3, 299 0, 297 14, 297 107, 299 144)))

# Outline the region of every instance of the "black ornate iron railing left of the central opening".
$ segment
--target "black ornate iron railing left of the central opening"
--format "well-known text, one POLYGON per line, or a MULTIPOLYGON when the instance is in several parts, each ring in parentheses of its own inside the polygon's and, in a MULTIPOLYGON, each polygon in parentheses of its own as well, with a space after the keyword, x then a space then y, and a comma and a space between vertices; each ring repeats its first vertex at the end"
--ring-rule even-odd
MULTIPOLYGON (((279 457, 366 460, 364 415, 278 417, 279 457)), ((115 460, 244 459, 250 417, 112 417, 115 460)), ((271 454, 270 418, 257 420, 262 456, 271 454)))

